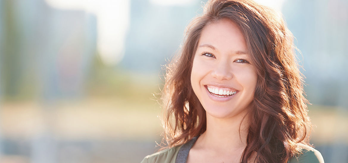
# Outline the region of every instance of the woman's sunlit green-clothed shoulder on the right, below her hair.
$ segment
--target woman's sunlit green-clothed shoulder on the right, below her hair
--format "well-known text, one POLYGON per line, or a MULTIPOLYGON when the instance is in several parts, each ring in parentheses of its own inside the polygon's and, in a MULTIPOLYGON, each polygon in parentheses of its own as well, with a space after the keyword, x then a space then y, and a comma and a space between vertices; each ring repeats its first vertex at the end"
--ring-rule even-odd
POLYGON ((288 163, 324 163, 322 154, 313 147, 301 144, 302 152, 292 157, 288 163))

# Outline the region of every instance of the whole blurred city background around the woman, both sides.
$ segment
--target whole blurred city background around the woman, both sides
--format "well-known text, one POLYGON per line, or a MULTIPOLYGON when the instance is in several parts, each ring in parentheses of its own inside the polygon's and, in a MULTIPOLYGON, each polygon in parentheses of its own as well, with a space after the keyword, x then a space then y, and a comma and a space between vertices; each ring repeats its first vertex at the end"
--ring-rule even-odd
MULTIPOLYGON (((204 1, 206 2, 206 1, 204 1)), ((162 66, 201 0, 1 0, 0 162, 136 163, 158 149, 162 66)), ((348 163, 348 0, 257 0, 302 51, 311 143, 348 163)))

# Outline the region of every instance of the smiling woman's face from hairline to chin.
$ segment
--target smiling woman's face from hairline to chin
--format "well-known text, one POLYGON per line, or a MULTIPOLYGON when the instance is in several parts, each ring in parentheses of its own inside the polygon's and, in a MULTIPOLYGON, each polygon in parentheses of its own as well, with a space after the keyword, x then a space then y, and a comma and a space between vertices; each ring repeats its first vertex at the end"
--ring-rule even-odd
POLYGON ((204 27, 193 59, 191 84, 206 113, 216 118, 245 115, 258 76, 243 33, 223 19, 204 27))

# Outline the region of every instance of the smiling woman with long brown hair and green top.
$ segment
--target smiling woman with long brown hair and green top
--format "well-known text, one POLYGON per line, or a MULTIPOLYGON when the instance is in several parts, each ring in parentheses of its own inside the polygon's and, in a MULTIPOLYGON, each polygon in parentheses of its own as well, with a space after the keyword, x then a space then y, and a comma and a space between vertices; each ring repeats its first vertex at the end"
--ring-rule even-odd
POLYGON ((167 149, 142 163, 323 163, 293 36, 280 15, 251 0, 212 0, 188 26, 167 66, 167 149))

